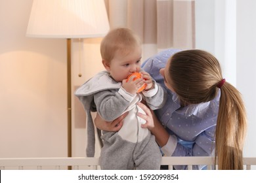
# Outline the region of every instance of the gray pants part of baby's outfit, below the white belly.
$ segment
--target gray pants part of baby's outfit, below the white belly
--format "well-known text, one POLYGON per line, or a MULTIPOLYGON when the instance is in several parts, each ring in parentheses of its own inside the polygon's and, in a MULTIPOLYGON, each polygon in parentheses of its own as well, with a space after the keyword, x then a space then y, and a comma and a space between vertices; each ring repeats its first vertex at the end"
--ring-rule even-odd
POLYGON ((118 133, 102 135, 104 146, 100 154, 102 170, 155 170, 160 169, 161 152, 154 135, 140 142, 125 141, 118 133))

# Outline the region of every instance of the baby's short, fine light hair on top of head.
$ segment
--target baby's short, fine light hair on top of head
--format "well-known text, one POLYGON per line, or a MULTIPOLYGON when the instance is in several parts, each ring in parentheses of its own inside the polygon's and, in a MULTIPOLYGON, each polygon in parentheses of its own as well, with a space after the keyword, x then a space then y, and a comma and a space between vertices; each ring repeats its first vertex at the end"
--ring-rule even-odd
POLYGON ((104 37, 100 44, 100 54, 102 59, 110 62, 117 51, 121 51, 122 54, 127 55, 136 46, 141 46, 139 36, 131 29, 118 27, 112 29, 104 37))

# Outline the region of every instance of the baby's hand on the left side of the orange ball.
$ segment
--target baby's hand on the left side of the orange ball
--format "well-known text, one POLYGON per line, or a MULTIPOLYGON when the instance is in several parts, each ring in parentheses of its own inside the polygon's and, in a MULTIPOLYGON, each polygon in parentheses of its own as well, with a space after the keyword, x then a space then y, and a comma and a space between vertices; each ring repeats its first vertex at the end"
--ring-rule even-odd
POLYGON ((126 92, 135 95, 137 91, 142 87, 144 84, 144 80, 142 78, 138 78, 137 80, 133 80, 136 76, 131 76, 129 80, 124 79, 122 81, 122 87, 125 89, 126 92))

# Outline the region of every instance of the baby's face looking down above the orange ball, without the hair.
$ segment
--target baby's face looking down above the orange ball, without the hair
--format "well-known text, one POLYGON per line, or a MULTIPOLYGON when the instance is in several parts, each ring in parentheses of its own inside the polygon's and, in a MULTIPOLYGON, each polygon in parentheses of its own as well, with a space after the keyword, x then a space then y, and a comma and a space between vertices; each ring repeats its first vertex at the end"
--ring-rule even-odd
POLYGON ((140 71, 141 48, 138 46, 128 54, 117 51, 114 58, 110 61, 108 71, 116 82, 122 82, 131 73, 140 71))

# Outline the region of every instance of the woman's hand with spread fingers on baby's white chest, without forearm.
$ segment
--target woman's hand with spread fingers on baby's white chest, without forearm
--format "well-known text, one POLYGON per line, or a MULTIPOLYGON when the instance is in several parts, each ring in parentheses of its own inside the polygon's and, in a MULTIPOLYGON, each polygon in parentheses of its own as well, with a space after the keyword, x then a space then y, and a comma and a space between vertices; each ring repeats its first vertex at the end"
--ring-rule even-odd
POLYGON ((146 105, 144 105, 143 103, 137 103, 137 105, 139 105, 140 108, 142 108, 142 110, 144 110, 144 112, 146 114, 142 114, 140 112, 138 112, 138 116, 142 119, 144 119, 146 121, 146 124, 142 124, 141 127, 142 128, 148 128, 150 131, 152 128, 154 128, 154 118, 152 116, 152 111, 150 110, 150 108, 146 107, 146 105))

